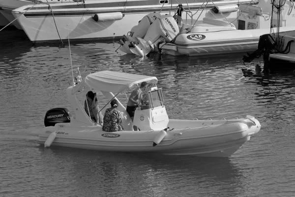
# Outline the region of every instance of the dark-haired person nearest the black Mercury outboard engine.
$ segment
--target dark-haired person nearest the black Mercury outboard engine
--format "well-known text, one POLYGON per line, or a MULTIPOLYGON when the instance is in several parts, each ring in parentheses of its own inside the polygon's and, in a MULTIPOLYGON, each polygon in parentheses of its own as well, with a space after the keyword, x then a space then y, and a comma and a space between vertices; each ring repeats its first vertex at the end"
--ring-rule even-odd
POLYGON ((89 115, 92 121, 95 123, 102 124, 103 123, 103 115, 99 112, 98 101, 96 98, 96 93, 89 91, 86 94, 86 100, 84 101, 84 107, 86 113, 89 115))

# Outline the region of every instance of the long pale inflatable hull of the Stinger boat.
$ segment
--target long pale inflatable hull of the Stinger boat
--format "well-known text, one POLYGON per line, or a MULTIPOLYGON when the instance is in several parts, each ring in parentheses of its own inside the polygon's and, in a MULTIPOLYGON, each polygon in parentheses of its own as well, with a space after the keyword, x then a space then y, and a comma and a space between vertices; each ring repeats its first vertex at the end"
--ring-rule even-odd
POLYGON ((104 132, 100 126, 81 127, 65 123, 59 123, 55 127, 46 127, 41 131, 39 141, 45 142, 52 132, 56 132, 57 137, 51 144, 52 146, 97 151, 230 157, 260 130, 259 122, 254 120, 255 123, 249 119, 170 120, 168 126, 176 129, 167 131, 166 136, 157 146, 153 146, 153 140, 160 131, 104 132), (191 129, 191 127, 195 128, 191 129))

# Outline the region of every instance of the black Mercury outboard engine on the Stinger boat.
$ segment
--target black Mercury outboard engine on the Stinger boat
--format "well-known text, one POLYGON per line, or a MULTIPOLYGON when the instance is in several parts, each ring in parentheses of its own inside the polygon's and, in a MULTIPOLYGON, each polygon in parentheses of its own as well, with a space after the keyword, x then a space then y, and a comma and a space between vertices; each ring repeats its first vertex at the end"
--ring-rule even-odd
POLYGON ((55 126, 57 123, 69 123, 70 120, 71 116, 67 108, 53 108, 46 112, 44 125, 45 127, 55 126))

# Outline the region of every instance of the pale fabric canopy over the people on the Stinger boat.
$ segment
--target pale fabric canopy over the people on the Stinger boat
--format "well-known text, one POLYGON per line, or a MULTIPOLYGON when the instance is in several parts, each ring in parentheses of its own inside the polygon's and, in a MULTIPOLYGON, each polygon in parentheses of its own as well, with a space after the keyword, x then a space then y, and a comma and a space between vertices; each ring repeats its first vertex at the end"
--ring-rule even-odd
POLYGON ((144 81, 156 84, 158 79, 157 77, 146 75, 104 70, 87 75, 82 82, 73 88, 72 94, 79 91, 82 87, 89 87, 94 91, 105 91, 117 94, 122 93, 131 88, 133 85, 144 81))

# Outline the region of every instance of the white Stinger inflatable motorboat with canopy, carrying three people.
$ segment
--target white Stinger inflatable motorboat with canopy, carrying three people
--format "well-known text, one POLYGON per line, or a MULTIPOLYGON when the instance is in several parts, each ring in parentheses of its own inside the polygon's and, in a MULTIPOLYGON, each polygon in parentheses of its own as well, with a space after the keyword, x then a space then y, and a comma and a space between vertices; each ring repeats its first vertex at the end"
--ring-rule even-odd
MULTIPOLYGON (((260 131, 261 125, 253 116, 233 120, 177 120, 169 119, 162 89, 157 78, 115 71, 99 71, 86 76, 67 89, 68 100, 74 110, 70 116, 65 108, 47 111, 45 128, 39 141, 49 146, 92 149, 116 152, 150 152, 167 155, 230 157, 236 150, 260 131), (108 100, 117 99, 133 85, 152 84, 147 93, 148 104, 135 110, 134 120, 118 101, 125 131, 105 132, 101 125, 91 121, 81 105, 79 94, 85 88, 101 92, 108 100), (140 131, 134 131, 133 125, 140 131)), ((83 93, 80 93, 83 92, 83 93)), ((106 104, 108 105, 108 103, 106 104)), ((105 106, 106 106, 105 105, 105 106)), ((105 111, 102 110, 103 113, 105 111)))

